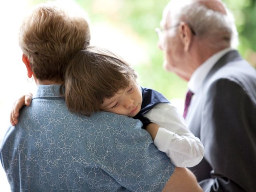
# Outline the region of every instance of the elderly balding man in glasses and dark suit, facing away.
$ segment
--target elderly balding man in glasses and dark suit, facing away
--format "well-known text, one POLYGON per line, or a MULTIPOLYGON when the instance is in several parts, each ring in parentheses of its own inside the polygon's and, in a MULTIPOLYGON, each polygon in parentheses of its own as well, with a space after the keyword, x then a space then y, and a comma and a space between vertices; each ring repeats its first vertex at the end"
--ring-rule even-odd
POLYGON ((191 168, 200 186, 256 191, 256 71, 232 48, 232 14, 220 0, 172 0, 161 25, 165 68, 188 81, 184 117, 205 147, 191 168))

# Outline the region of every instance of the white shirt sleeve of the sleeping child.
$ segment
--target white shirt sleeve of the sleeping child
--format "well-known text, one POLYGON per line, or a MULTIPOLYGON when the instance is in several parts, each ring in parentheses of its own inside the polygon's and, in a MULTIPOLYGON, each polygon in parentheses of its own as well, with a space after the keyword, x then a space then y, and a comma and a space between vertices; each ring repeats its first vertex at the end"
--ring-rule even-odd
POLYGON ((159 126, 151 126, 149 132, 152 134, 157 129, 154 144, 170 157, 175 166, 192 167, 202 160, 204 147, 200 139, 188 130, 184 118, 174 106, 160 103, 144 116, 159 126))

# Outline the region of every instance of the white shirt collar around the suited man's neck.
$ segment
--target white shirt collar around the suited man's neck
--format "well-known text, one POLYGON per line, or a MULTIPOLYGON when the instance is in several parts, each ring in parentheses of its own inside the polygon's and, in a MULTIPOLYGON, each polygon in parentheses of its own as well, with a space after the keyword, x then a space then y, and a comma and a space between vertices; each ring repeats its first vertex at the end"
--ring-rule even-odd
POLYGON ((188 89, 192 91, 194 94, 198 91, 200 86, 202 85, 204 79, 206 78, 206 75, 211 70, 211 68, 214 66, 214 64, 222 57, 224 54, 229 52, 230 50, 233 50, 232 48, 225 48, 210 58, 206 60, 202 65, 200 65, 192 74, 189 82, 188 82, 188 89))

